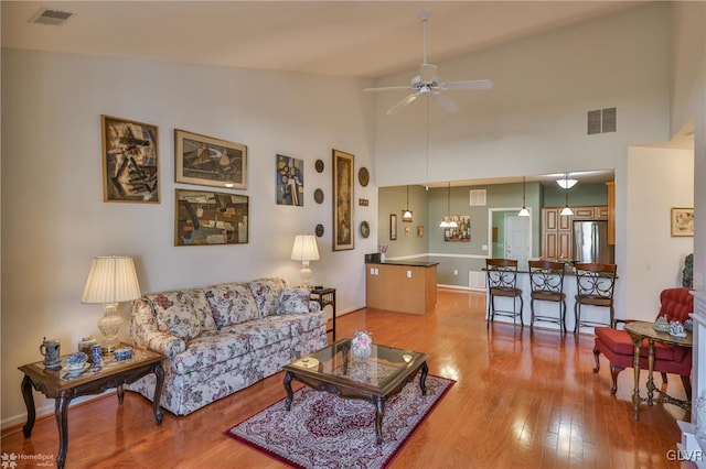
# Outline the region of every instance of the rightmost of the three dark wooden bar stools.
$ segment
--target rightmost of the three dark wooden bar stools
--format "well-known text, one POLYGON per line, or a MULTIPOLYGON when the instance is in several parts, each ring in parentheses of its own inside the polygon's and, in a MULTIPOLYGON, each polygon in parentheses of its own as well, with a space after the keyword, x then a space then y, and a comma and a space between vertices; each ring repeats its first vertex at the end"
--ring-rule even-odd
POLYGON ((581 326, 608 326, 616 328, 616 310, 613 308, 613 291, 616 288, 616 264, 579 263, 576 264, 576 303, 574 315, 576 325, 574 334, 581 326), (610 318, 608 323, 596 320, 581 320, 581 306, 597 306, 608 308, 610 318))

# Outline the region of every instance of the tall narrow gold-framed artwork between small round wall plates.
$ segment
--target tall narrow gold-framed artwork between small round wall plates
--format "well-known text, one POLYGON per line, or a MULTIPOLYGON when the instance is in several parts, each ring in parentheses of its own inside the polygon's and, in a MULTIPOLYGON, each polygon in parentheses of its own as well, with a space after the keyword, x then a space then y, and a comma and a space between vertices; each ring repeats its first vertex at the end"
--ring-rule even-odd
POLYGON ((333 150, 333 250, 353 249, 353 168, 350 153, 333 150))

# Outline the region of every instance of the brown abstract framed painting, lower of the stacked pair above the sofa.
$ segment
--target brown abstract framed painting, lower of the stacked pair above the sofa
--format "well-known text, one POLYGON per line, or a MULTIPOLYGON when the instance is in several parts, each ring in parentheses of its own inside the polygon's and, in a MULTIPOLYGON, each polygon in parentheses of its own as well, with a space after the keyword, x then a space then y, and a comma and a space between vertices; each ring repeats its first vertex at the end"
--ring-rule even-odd
POLYGON ((176 189, 174 246, 246 244, 248 197, 176 189))

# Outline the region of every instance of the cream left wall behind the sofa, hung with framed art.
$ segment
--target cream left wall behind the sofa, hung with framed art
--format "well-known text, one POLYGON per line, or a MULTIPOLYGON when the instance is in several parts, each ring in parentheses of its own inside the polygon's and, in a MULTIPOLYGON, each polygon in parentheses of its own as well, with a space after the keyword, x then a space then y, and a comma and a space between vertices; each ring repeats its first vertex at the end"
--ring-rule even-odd
MULTIPOLYGON (((3 426, 24 418, 17 367, 41 360, 44 336, 71 352, 82 336, 99 335, 100 307, 81 304, 94 255, 133 257, 143 292, 266 275, 298 282, 293 237, 323 223, 313 281, 339 288, 339 312, 364 306, 363 253, 376 250, 376 237, 356 229, 355 250, 331 250, 331 149, 372 170, 361 89, 352 79, 3 50, 3 426), (161 204, 103 203, 101 113, 159 126, 161 204), (174 128, 248 145, 239 192, 250 197, 248 244, 173 246, 174 188, 196 187, 174 183, 174 128), (304 207, 275 204, 277 153, 304 160, 304 207)), ((356 182, 355 190, 371 201, 355 205, 356 228, 366 219, 375 233, 375 185, 356 182)), ((53 404, 36 395, 38 408, 53 404)))

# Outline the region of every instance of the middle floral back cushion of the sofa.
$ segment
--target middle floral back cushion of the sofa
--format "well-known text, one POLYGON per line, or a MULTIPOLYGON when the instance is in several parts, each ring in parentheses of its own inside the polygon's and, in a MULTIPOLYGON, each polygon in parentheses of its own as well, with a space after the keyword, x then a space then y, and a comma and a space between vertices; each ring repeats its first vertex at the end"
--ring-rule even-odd
POLYGON ((259 317, 253 293, 245 283, 212 286, 206 288, 206 298, 218 329, 259 317))

